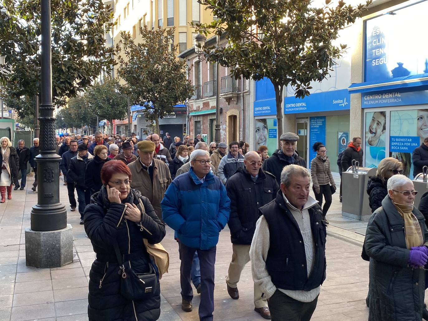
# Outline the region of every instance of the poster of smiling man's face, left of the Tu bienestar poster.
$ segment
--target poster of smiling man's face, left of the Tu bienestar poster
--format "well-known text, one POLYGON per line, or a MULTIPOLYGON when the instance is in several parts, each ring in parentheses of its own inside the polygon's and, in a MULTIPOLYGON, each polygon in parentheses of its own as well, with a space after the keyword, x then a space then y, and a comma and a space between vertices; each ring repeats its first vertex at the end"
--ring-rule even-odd
POLYGON ((386 112, 366 113, 366 141, 364 157, 366 167, 377 167, 385 158, 386 112))

